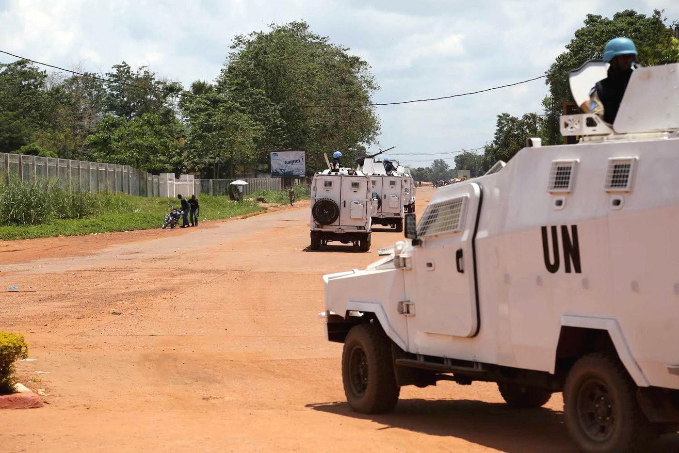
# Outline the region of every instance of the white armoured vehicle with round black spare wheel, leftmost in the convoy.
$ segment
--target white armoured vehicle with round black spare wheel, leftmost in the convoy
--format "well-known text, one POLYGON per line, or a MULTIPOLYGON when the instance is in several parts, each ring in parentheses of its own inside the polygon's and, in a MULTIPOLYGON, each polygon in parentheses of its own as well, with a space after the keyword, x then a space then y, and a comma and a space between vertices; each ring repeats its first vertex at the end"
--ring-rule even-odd
POLYGON ((316 173, 311 182, 311 245, 331 241, 370 250, 372 189, 367 176, 350 168, 316 173))

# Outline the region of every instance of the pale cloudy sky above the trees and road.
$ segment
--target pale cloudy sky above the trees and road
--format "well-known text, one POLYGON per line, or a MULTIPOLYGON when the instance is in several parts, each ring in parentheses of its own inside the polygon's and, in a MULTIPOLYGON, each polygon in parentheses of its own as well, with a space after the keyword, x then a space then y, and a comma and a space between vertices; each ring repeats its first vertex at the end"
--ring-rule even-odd
MULTIPOLYGON (((60 67, 106 72, 122 60, 189 86, 219 74, 232 38, 306 20, 372 67, 378 103, 447 96, 543 75, 587 13, 634 8, 679 19, 679 1, 0 0, 0 49, 60 67)), ((0 54, 0 62, 14 58, 0 54)), ((541 113, 542 79, 445 101, 378 107, 382 148, 412 156, 483 146, 496 115, 541 113)), ((377 147, 373 147, 377 149, 377 147)), ((454 165, 451 158, 449 164, 454 165)), ((421 160, 416 162, 416 160, 421 160)))

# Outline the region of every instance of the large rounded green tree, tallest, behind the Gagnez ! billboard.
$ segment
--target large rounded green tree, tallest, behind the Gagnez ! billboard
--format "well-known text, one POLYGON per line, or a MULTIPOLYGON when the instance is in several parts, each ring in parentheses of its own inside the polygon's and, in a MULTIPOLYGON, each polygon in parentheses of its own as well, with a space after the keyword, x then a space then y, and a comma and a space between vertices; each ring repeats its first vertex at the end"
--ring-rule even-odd
POLYGON ((379 121, 365 104, 378 86, 367 62, 306 22, 239 35, 232 50, 216 89, 263 126, 258 162, 270 151, 304 149, 310 168, 324 168, 324 151, 340 149, 352 160, 375 139, 379 121))

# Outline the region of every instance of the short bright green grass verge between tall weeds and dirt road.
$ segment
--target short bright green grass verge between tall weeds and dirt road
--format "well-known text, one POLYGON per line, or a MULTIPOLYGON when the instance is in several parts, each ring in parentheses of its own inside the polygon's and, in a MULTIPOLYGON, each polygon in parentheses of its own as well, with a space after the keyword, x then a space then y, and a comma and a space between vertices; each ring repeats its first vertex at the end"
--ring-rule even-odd
MULTIPOLYGON (((0 191, 1 189, 2 187, 0 191)), ((113 195, 105 192, 87 194, 87 196, 94 200, 95 208, 92 213, 80 218, 48 219, 43 223, 33 225, 7 225, 7 219, 0 217, 3 223, 0 225, 0 240, 160 228, 169 209, 168 202, 175 206, 181 205, 177 198, 147 198, 124 194, 113 195)), ((230 202, 227 196, 198 196, 198 200, 200 202, 199 221, 225 219, 264 211, 264 208, 257 202, 249 200, 242 203, 230 202)))

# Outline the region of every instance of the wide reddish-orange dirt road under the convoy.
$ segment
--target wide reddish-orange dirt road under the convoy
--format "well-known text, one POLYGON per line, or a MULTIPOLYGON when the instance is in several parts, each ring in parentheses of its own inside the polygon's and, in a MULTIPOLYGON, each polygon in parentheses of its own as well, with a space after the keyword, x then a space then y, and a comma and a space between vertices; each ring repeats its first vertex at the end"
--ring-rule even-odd
MULTIPOLYGON (((420 189, 420 213, 432 193, 420 189)), ((302 206, 181 232, 0 242, 0 330, 26 334, 37 361, 18 365, 20 380, 49 394, 0 412, 0 450, 573 451, 558 394, 517 411, 494 384, 442 382, 403 388, 393 414, 352 412, 342 345, 317 317, 320 277, 402 236, 310 252, 307 222, 302 206)))

